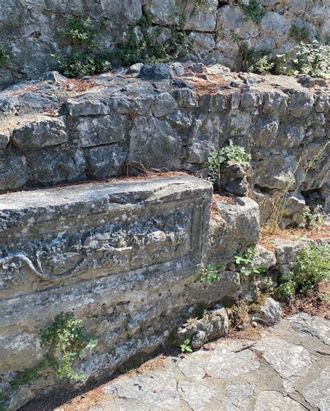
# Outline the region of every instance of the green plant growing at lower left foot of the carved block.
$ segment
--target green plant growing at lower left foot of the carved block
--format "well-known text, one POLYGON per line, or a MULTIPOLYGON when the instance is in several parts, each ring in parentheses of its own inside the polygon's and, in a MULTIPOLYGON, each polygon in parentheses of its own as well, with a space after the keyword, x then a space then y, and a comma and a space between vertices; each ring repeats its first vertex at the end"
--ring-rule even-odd
POLYGON ((83 380, 84 374, 76 373, 74 362, 85 348, 93 348, 95 339, 86 336, 81 328, 81 320, 77 320, 73 313, 60 313, 54 323, 46 329, 40 330, 40 344, 47 346, 44 358, 32 369, 25 369, 17 373, 6 391, 0 392, 0 410, 6 410, 5 396, 22 385, 29 385, 33 380, 40 378, 40 371, 50 367, 58 378, 83 380), (2 409, 1 409, 2 407, 2 409))

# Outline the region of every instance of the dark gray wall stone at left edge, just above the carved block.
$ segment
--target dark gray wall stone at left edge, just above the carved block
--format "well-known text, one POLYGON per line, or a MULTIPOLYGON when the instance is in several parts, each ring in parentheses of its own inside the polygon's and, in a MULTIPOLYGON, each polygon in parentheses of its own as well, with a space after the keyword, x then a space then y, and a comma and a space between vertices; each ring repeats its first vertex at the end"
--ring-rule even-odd
POLYGON ((22 157, 0 151, 0 191, 22 187, 28 178, 22 157))

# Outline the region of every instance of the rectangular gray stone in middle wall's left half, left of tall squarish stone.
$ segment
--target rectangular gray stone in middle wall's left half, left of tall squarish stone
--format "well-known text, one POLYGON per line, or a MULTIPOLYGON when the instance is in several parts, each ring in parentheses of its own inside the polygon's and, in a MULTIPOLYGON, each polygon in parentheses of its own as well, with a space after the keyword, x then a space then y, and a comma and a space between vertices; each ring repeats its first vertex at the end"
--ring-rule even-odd
POLYGON ((125 139, 127 118, 110 115, 102 118, 82 118, 77 125, 79 146, 91 147, 116 143, 125 139))

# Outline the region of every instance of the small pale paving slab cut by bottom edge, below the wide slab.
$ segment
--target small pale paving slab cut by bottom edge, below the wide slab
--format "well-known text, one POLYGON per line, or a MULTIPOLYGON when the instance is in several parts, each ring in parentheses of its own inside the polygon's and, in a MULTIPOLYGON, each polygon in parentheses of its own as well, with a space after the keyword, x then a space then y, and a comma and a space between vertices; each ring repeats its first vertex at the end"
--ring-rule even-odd
POLYGON ((210 410, 207 404, 218 394, 215 389, 189 381, 180 382, 178 392, 194 411, 210 410))

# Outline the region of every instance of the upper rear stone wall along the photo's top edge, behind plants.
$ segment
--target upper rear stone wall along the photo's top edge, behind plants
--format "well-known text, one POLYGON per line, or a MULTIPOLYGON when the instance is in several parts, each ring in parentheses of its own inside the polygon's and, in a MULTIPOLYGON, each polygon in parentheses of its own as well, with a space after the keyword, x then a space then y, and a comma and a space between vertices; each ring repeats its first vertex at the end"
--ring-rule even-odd
POLYGON ((305 27, 309 39, 329 42, 330 8, 327 0, 261 0, 265 15, 260 22, 246 17, 249 0, 8 0, 0 4, 0 47, 10 59, 0 68, 0 87, 18 79, 36 77, 56 68, 56 56, 70 47, 59 36, 65 26, 65 13, 104 19, 97 44, 105 51, 120 44, 129 25, 150 13, 159 38, 168 36, 168 27, 182 22, 194 50, 187 58, 203 58, 238 70, 241 49, 284 52, 299 38, 290 36, 292 24, 305 27))

